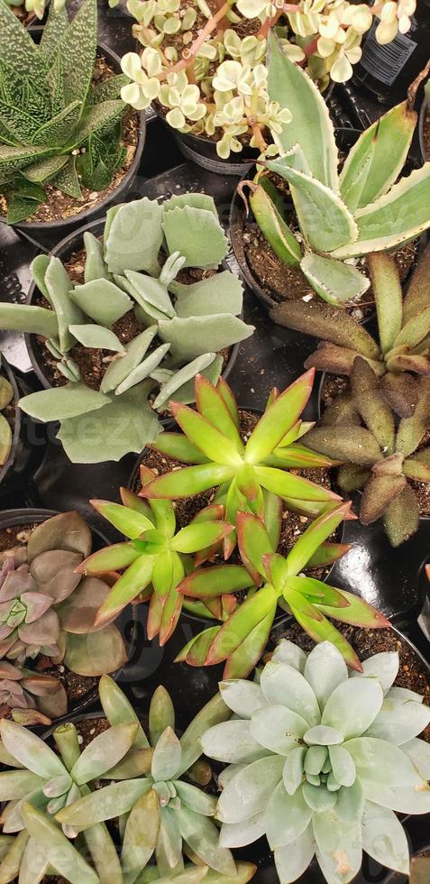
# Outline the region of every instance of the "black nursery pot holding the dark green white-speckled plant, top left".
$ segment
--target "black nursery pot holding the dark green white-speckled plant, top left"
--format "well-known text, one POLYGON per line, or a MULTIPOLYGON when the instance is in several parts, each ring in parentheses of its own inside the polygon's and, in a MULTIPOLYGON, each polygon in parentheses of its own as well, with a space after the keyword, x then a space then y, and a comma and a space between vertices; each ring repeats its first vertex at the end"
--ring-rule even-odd
MULTIPOLYGON (((43 31, 43 27, 41 25, 32 26, 31 28, 29 28, 29 30, 36 41, 39 41, 41 39, 41 33, 43 31)), ((107 46, 105 43, 99 42, 97 45, 97 54, 98 56, 102 56, 103 58, 105 58, 109 66, 114 70, 115 74, 122 73, 121 59, 109 46, 107 46)), ((13 226, 16 227, 18 230, 28 231, 29 233, 36 233, 37 231, 46 231, 53 233, 57 229, 65 230, 68 227, 76 226, 77 224, 84 224, 87 222, 88 219, 94 217, 100 211, 100 209, 106 208, 112 203, 124 202, 127 193, 129 193, 129 191, 133 187, 133 182, 138 173, 142 160, 142 152, 146 135, 146 120, 144 113, 141 113, 139 115, 139 121, 139 138, 136 145, 133 161, 131 162, 128 170, 125 172, 124 178, 104 198, 95 200, 94 204, 91 207, 83 209, 81 212, 78 212, 76 215, 71 217, 61 218, 56 221, 32 221, 30 219, 28 221, 19 221, 13 226)), ((6 216, 0 216, 0 222, 4 222, 4 224, 6 224, 6 216)))

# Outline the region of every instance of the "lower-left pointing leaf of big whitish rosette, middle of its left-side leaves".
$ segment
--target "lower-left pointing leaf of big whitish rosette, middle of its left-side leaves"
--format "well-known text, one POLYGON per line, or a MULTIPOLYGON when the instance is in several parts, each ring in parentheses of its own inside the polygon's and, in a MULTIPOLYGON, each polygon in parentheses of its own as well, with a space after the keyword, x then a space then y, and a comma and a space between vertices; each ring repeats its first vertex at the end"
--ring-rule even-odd
POLYGON ((282 778, 283 765, 281 756, 270 755, 240 769, 219 798, 218 819, 223 823, 240 823, 264 811, 282 778))

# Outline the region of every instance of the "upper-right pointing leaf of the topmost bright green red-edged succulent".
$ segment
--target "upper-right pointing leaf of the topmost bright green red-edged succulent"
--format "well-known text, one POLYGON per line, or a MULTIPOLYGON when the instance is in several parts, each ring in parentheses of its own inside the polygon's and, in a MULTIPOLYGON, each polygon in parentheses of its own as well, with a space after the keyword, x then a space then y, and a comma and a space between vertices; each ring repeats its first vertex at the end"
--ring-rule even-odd
POLYGON ((314 375, 313 370, 303 374, 264 412, 246 443, 247 463, 258 464, 264 460, 296 424, 311 394, 314 375))

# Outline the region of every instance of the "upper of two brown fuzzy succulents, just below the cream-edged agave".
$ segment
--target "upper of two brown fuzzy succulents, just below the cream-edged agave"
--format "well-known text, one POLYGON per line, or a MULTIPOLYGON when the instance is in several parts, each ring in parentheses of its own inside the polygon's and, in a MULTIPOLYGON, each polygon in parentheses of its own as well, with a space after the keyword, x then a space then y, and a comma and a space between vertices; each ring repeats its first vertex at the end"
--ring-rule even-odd
POLYGON ((425 248, 416 265, 405 299, 396 263, 389 254, 370 254, 368 266, 377 311, 376 337, 344 310, 315 300, 285 301, 270 315, 281 326, 320 339, 315 353, 306 359, 308 368, 350 375, 360 355, 378 376, 385 401, 402 418, 408 418, 416 408, 418 378, 430 373, 430 248, 425 248))

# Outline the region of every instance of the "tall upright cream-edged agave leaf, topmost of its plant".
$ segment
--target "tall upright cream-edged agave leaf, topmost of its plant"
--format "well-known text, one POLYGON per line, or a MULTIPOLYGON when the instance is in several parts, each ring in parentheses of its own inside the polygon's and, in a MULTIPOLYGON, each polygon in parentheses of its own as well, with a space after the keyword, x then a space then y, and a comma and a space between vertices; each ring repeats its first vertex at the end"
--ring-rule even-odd
POLYGON ((312 175, 328 188, 339 189, 334 128, 325 100, 312 79, 282 51, 272 31, 269 38, 269 95, 288 107, 291 123, 276 135, 282 152, 299 144, 312 175))

